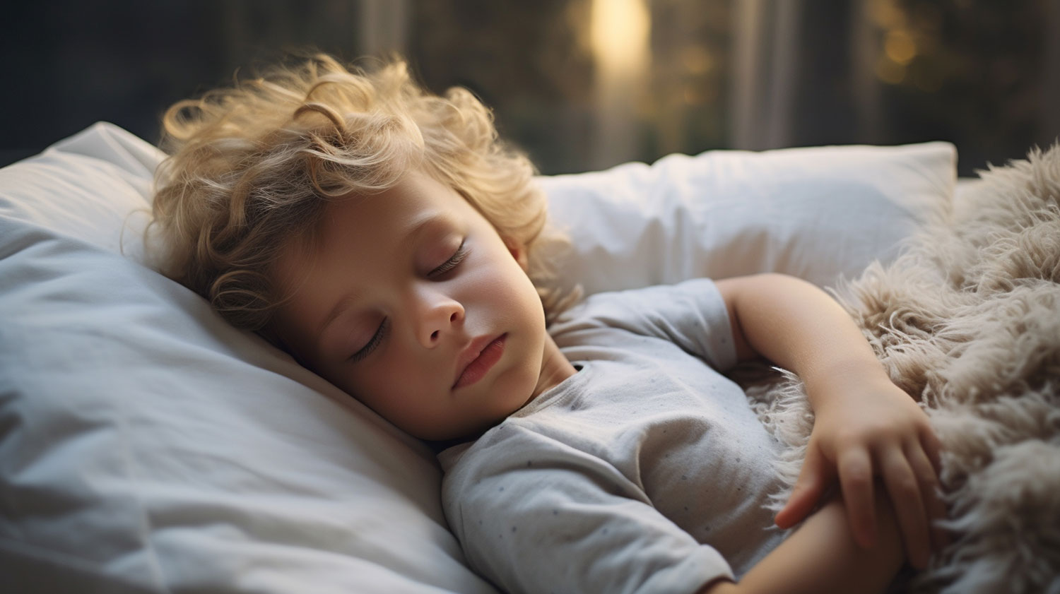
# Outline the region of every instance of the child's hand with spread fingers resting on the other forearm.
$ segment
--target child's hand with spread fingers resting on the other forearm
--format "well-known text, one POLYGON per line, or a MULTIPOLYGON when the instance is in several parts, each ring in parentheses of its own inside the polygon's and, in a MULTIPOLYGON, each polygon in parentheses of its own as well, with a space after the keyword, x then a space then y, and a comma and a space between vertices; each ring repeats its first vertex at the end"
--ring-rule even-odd
POLYGON ((876 518, 872 488, 879 475, 890 496, 909 562, 923 569, 932 544, 944 544, 933 528, 944 517, 937 497, 939 443, 928 416, 886 376, 832 378, 817 388, 818 401, 806 462, 777 525, 791 527, 817 504, 838 474, 854 540, 872 545, 876 518))

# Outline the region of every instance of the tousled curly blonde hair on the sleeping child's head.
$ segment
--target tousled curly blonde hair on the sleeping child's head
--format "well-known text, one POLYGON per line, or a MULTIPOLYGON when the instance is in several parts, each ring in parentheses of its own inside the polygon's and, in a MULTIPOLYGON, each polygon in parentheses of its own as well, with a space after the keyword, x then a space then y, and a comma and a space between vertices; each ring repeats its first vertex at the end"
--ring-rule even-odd
POLYGON ((379 193, 416 167, 526 246, 549 319, 565 303, 541 288, 550 274, 535 248, 563 239, 547 226, 530 160, 498 139, 471 92, 430 94, 400 58, 370 72, 325 54, 278 64, 174 104, 162 128, 160 268, 237 327, 267 328, 284 299, 270 267, 292 241, 312 242, 329 201, 379 193))

